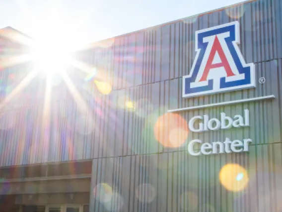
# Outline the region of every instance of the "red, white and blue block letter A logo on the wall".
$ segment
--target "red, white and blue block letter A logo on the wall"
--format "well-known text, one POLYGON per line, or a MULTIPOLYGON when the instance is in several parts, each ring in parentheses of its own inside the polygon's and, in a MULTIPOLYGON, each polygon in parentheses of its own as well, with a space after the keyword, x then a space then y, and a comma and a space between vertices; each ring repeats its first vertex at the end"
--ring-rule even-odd
POLYGON ((255 66, 246 64, 239 47, 239 22, 196 31, 197 55, 183 77, 183 97, 255 87, 255 66))

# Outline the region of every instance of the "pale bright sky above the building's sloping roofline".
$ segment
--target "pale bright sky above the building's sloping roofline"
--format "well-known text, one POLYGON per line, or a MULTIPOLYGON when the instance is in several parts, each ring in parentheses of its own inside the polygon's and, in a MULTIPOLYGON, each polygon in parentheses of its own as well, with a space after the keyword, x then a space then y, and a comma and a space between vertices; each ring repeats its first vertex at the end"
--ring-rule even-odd
POLYGON ((243 0, 0 0, 0 28, 94 42, 243 0))

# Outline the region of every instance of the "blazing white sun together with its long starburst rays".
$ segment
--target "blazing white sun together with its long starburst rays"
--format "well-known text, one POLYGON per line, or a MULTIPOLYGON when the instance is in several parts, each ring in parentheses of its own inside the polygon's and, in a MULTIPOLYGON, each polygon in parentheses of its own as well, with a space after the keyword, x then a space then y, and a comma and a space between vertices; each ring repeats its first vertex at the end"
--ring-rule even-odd
POLYGON ((37 80, 38 75, 40 75, 41 78, 46 79, 43 112, 46 117, 50 112, 51 96, 57 91, 53 89, 58 85, 54 83, 57 78, 60 83, 67 86, 78 105, 78 109, 83 113, 88 111, 86 102, 69 76, 69 70, 72 68, 77 72, 82 72, 85 77, 91 76, 87 82, 92 81, 101 94, 108 95, 111 93, 111 84, 95 77, 96 72, 103 72, 93 64, 81 61, 76 57, 78 52, 93 47, 91 37, 87 32, 88 26, 85 26, 83 21, 86 14, 79 16, 79 18, 76 16, 64 18, 61 10, 58 11, 52 9, 48 12, 48 15, 43 15, 41 18, 32 18, 30 14, 31 16, 28 18, 30 21, 26 25, 26 31, 29 31, 30 36, 9 36, 10 39, 22 43, 26 47, 26 52, 8 58, 7 62, 1 65, 10 67, 19 63, 28 63, 31 66, 28 66, 30 70, 22 81, 0 103, 0 108, 8 104, 11 99, 20 94, 33 80, 37 80))

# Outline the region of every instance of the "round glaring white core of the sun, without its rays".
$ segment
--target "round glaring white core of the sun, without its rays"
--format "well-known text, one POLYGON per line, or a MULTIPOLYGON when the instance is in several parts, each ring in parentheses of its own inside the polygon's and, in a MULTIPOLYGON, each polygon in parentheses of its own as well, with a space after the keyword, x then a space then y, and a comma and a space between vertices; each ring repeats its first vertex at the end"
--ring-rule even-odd
POLYGON ((29 56, 47 75, 65 72, 74 60, 74 53, 89 45, 84 30, 77 27, 79 24, 60 16, 42 20, 37 26, 29 56))

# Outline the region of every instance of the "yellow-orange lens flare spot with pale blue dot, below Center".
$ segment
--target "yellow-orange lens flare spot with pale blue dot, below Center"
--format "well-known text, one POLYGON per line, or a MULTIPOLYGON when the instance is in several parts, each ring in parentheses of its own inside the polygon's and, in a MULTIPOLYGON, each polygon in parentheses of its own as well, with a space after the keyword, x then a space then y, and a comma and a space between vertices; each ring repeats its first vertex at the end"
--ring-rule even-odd
POLYGON ((240 192, 249 183, 249 176, 245 168, 238 164, 226 164, 219 173, 219 180, 222 186, 232 192, 240 192))

